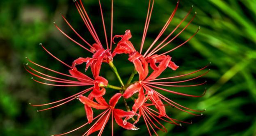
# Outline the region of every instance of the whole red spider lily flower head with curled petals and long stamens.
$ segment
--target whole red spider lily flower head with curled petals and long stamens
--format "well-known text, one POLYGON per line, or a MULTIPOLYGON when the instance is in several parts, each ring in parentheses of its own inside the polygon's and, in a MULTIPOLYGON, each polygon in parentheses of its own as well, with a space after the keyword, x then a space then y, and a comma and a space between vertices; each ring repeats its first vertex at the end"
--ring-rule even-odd
MULTIPOLYGON (((50 102, 47 104, 31 104, 35 107, 42 107, 46 105, 54 105, 47 109, 41 109, 38 111, 45 111, 48 109, 53 109, 56 107, 59 107, 63 104, 66 104, 72 100, 78 99, 85 107, 85 112, 87 116, 87 122, 84 125, 81 125, 78 128, 75 128, 71 131, 68 131, 63 134, 56 134, 54 136, 62 136, 65 134, 69 134, 77 129, 81 129, 82 127, 86 125, 90 125, 89 129, 85 131, 83 136, 89 136, 90 134, 94 132, 98 132, 98 136, 101 136, 103 134, 103 130, 105 128, 105 125, 107 122, 110 122, 112 124, 112 135, 113 132, 113 124, 114 121, 119 125, 120 127, 123 127, 124 129, 129 129, 131 131, 137 131, 139 128, 136 127, 137 122, 144 121, 146 128, 149 131, 149 135, 151 133, 156 133, 156 129, 159 129, 161 131, 167 131, 164 125, 162 125, 161 122, 168 122, 170 124, 174 125, 181 125, 181 123, 187 123, 191 124, 192 122, 185 122, 178 119, 171 118, 169 114, 166 112, 166 108, 168 107, 174 107, 176 109, 179 109, 181 111, 184 111, 186 113, 192 114, 194 116, 201 116, 204 110, 194 110, 187 108, 181 104, 178 104, 177 102, 174 102, 173 100, 169 99, 167 96, 162 95, 161 91, 169 92, 175 95, 183 95, 185 97, 201 97, 205 94, 206 90, 203 92, 202 95, 190 95, 185 93, 179 93, 176 91, 172 91, 166 88, 163 88, 164 86, 169 87, 187 87, 187 86, 200 86, 205 84, 206 82, 203 82, 201 84, 194 84, 194 85, 177 85, 177 83, 183 83, 188 82, 194 79, 197 79, 199 77, 202 77, 206 73, 209 72, 209 70, 206 73, 203 73, 202 75, 199 75, 197 77, 187 79, 187 80, 181 80, 176 82, 169 82, 168 79, 174 79, 178 77, 185 77, 187 75, 192 75, 194 73, 197 73, 201 70, 204 70, 208 66, 205 66, 197 71, 194 71, 192 73, 187 73, 184 75, 178 75, 174 77, 164 77, 164 78, 158 78, 162 72, 164 72, 167 69, 176 70, 179 66, 177 66, 173 61, 171 61, 171 56, 168 55, 169 52, 172 52, 173 50, 181 47, 185 43, 187 43, 192 37, 194 37, 195 34, 199 31, 197 31, 189 38, 187 41, 181 43, 180 45, 177 45, 175 48, 160 53, 160 50, 164 48, 165 46, 169 45, 171 41, 176 39, 178 35, 180 35, 192 22, 194 19, 196 13, 192 17, 192 19, 185 25, 185 27, 178 32, 173 38, 170 38, 170 36, 176 31, 178 27, 183 23, 183 21, 189 16, 192 8, 190 11, 188 11, 187 15, 181 22, 177 25, 176 28, 166 37, 164 40, 160 41, 158 45, 155 45, 157 41, 160 39, 162 34, 165 32, 169 24, 171 23, 171 20, 173 19, 176 10, 179 5, 179 1, 177 2, 177 5, 174 9, 174 11, 171 13, 170 17, 168 18, 165 25, 160 30, 158 36, 155 38, 155 40, 149 45, 149 47, 146 49, 144 53, 143 46, 144 41, 146 39, 147 30, 149 29, 149 23, 151 19, 151 14, 153 11, 153 5, 154 0, 149 0, 149 7, 147 10, 147 16, 146 16, 146 22, 144 26, 144 32, 142 35, 142 42, 140 45, 139 50, 136 50, 133 43, 129 40, 132 38, 131 31, 128 29, 125 31, 123 35, 115 35, 113 36, 113 0, 111 5, 111 32, 110 37, 107 36, 107 32, 105 29, 105 23, 103 18, 103 11, 101 8, 101 2, 99 2, 99 9, 101 11, 101 19, 103 23, 103 30, 105 34, 105 45, 106 47, 103 47, 103 42, 100 41, 98 34, 94 28, 94 25, 91 23, 91 20, 89 18, 89 15, 87 14, 85 7, 82 3, 82 0, 74 0, 75 7, 78 9, 78 13, 80 14, 82 21, 85 23, 85 26, 87 27, 89 33, 91 34, 91 38, 94 39, 94 43, 91 44, 87 42, 85 39, 82 38, 78 32, 73 29, 73 27, 70 25, 68 20, 61 15, 64 19, 64 21, 67 23, 67 25, 73 30, 73 32, 84 42, 86 45, 82 45, 82 43, 79 43, 72 39, 70 36, 68 36, 65 32, 63 32, 57 25, 54 23, 55 27, 59 29, 59 31, 64 34, 67 38, 69 38, 71 41, 73 41, 75 44, 79 45, 80 47, 84 48, 88 52, 92 54, 91 57, 83 58, 80 57, 73 61, 72 65, 68 65, 65 62, 61 61, 57 57, 55 57, 53 54, 51 54, 41 43, 40 45, 42 48, 48 52, 53 58, 57 59, 60 63, 67 66, 68 73, 60 73, 58 71, 55 71, 50 68, 46 68, 44 66, 39 65, 38 63, 35 63, 34 61, 31 61, 27 58, 27 60, 34 64, 35 66, 41 67, 45 70, 49 70, 50 72, 57 73, 59 75, 62 75, 64 77, 69 77, 69 79, 64 79, 60 77, 53 77, 51 75, 44 74, 34 68, 32 68, 30 65, 24 65, 25 70, 29 72, 30 74, 34 75, 34 77, 42 80, 46 80, 50 83, 45 83, 43 81, 39 81, 35 78, 32 78, 35 82, 46 84, 50 86, 84 86, 85 90, 80 91, 79 93, 76 93, 70 97, 66 97, 62 100, 58 100, 55 102, 50 102), (118 41, 116 45, 113 45, 114 41, 118 41), (116 66, 114 66, 114 60, 117 59, 115 56, 117 54, 127 54, 128 55, 128 61, 134 64, 134 70, 131 72, 130 78, 128 79, 128 82, 126 84, 123 83, 121 77, 119 76, 118 70, 116 66), (88 69, 91 70, 93 77, 89 77, 85 75, 85 73, 78 71, 76 66, 86 63, 85 71, 87 72, 88 69), (102 63, 108 63, 110 68, 113 70, 115 75, 117 76, 117 79, 120 82, 120 86, 112 86, 111 83, 107 81, 106 77, 102 77, 100 75, 101 64, 102 63), (149 73, 149 69, 152 69, 153 72, 149 73), (139 80, 134 81, 133 77, 135 74, 139 75, 139 80), (70 79, 71 78, 71 79, 70 79), (87 87, 88 86, 88 87, 87 87), (112 88, 117 90, 117 92, 110 98, 110 100, 105 100, 104 96, 107 94, 108 89, 112 88), (136 94, 136 95, 135 95, 136 94), (120 98, 123 97, 124 104, 123 109, 126 109, 126 111, 122 109, 117 109, 115 106, 118 102, 120 102, 120 98), (133 100, 133 107, 130 109, 128 107, 128 104, 126 103, 126 99, 132 99, 133 100), (99 115, 94 115, 94 110, 100 110, 102 111, 99 115)), ((114 43, 115 44, 115 43, 114 43)), ((123 103, 121 101, 120 103, 123 103)), ((86 121, 86 120, 85 120, 86 121)))

